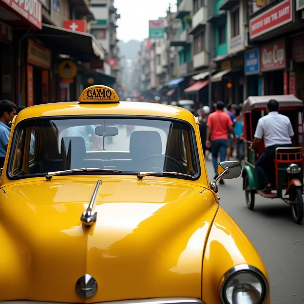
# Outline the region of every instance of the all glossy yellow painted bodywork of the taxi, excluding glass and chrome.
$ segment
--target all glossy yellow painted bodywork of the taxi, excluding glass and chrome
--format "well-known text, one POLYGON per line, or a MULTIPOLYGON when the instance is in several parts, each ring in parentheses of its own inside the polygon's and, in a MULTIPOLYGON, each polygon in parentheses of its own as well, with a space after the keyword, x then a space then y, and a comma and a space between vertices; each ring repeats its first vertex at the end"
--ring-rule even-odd
POLYGON ((0 180, 0 301, 93 303, 180 296, 218 304, 219 280, 229 268, 247 263, 267 276, 256 250, 209 188, 198 119, 189 111, 144 102, 37 105, 14 119, 8 150, 20 121, 65 115, 183 119, 195 130, 200 178, 84 175, 12 181, 6 159, 0 180), (99 178, 97 222, 84 228, 80 216, 99 178), (87 300, 75 292, 85 273, 98 282, 98 292, 87 300))

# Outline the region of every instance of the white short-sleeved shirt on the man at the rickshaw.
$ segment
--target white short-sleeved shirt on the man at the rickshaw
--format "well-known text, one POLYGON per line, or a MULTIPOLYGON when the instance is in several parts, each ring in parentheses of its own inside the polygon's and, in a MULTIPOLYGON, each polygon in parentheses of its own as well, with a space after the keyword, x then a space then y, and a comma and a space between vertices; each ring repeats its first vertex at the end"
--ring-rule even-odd
POLYGON ((278 112, 269 112, 257 122, 257 129, 254 137, 264 137, 265 148, 273 145, 287 145, 291 143, 291 136, 294 136, 290 119, 278 112))

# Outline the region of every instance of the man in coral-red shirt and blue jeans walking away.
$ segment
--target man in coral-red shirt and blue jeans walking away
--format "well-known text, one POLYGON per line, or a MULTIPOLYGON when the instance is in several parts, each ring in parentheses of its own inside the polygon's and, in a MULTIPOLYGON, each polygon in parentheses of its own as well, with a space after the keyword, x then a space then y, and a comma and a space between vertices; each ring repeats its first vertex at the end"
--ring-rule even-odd
MULTIPOLYGON (((206 147, 211 146, 212 152, 212 162, 215 172, 215 177, 217 178, 217 157, 219 155, 220 161, 226 160, 227 146, 228 146, 228 129, 233 135, 233 140, 236 141, 233 123, 226 113, 223 112, 224 103, 218 101, 216 103, 216 111, 209 114, 207 120, 207 131, 206 131, 206 147), (211 135, 211 142, 209 140, 211 135)), ((223 179, 220 179, 220 184, 224 183, 223 179)))

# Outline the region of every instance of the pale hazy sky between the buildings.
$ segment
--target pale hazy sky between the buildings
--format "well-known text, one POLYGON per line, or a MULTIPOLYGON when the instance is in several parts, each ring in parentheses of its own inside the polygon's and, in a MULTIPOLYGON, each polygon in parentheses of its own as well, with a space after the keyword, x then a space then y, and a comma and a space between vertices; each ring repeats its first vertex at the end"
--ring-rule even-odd
POLYGON ((149 36, 149 20, 165 17, 171 3, 176 12, 176 0, 114 0, 114 6, 121 19, 117 21, 117 38, 142 41, 149 36))

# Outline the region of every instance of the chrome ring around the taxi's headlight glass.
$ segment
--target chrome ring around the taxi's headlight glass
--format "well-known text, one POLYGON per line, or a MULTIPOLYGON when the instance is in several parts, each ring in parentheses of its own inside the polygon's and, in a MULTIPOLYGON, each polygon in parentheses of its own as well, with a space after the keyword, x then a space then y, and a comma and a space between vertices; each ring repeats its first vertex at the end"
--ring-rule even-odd
POLYGON ((262 299, 262 302, 259 302, 258 304, 264 304, 268 298, 268 292, 269 292, 269 285, 268 281, 265 278, 264 274, 256 267, 248 265, 248 264, 240 264, 236 265, 233 268, 229 269, 220 279, 219 281, 219 296, 223 304, 227 304, 227 302, 224 300, 223 297, 223 288, 227 282, 227 280, 232 276, 235 275, 238 272, 247 271, 247 272, 254 272, 256 275, 258 275, 262 282, 265 285, 265 292, 264 292, 264 298, 262 299))

